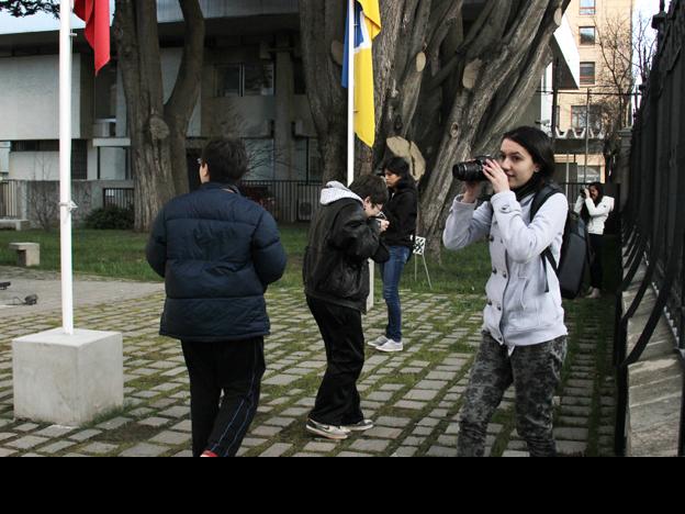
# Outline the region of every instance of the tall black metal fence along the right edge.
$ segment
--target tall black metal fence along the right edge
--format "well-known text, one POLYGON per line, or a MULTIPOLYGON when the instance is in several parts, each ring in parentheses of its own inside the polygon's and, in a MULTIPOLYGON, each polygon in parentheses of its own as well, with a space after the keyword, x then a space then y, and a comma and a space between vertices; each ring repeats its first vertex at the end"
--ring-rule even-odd
MULTIPOLYGON (((664 2, 661 2, 662 11, 664 2)), ((628 367, 642 358, 664 312, 676 335, 685 366, 685 0, 674 0, 671 12, 655 18, 659 48, 642 107, 637 115, 631 148, 629 195, 621 233, 628 269, 618 291, 616 364, 618 366, 617 454, 626 451, 628 367), (638 294, 624 312, 620 297, 647 261, 638 294), (628 354, 628 323, 655 287, 656 303, 635 349, 628 354)), ((622 262, 621 262, 622 265, 622 262)), ((685 391, 684 391, 685 394, 685 391)), ((684 395, 685 399, 685 395, 684 395)), ((685 412, 682 412, 680 456, 685 455, 685 412)))

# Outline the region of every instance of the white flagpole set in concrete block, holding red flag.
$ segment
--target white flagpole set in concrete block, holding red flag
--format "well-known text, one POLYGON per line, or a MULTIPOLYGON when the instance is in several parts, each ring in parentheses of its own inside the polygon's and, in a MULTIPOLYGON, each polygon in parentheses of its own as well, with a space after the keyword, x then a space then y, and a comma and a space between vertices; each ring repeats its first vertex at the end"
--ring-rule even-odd
POLYGON ((61 245, 61 317, 66 335, 74 335, 71 270, 71 11, 60 0, 59 18, 59 221, 61 245))

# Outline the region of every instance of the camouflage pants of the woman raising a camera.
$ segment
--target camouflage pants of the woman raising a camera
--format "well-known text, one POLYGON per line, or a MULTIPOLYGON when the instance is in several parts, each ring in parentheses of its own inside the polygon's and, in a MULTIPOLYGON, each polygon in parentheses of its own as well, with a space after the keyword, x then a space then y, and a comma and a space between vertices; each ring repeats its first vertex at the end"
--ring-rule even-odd
POLYGON ((553 399, 566 357, 566 338, 516 348, 509 357, 490 334, 483 335, 461 411, 460 457, 482 457, 487 425, 506 390, 516 389, 516 428, 534 457, 554 457, 553 399))

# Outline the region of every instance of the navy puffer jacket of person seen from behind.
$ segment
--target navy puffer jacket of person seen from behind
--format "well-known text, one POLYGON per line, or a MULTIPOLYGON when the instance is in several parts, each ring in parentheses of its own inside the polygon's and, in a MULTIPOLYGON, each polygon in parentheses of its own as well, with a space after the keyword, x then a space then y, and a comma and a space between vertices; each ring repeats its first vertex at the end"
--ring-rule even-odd
POLYGON ((227 186, 205 183, 160 212, 147 260, 166 279, 161 335, 188 342, 269 334, 267 287, 285 270, 273 217, 227 186))

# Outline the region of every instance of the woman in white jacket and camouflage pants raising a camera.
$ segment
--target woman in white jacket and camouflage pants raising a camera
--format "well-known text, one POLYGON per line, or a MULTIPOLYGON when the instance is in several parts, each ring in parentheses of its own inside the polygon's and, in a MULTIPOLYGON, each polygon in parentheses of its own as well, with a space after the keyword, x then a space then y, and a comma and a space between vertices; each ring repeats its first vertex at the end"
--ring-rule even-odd
POLYGON ((512 384, 517 431, 530 454, 557 454, 553 398, 568 329, 557 273, 541 256, 551 248, 560 259, 569 212, 565 197, 551 197, 530 219, 536 193, 553 172, 550 138, 534 127, 516 128, 504 135, 499 160, 487 160, 483 167, 494 189, 491 201, 476 209, 481 185, 469 182, 447 222, 445 246, 459 250, 489 238, 493 268, 483 343, 461 413, 460 456, 484 455, 487 425, 512 384))

